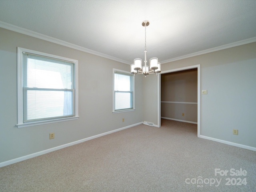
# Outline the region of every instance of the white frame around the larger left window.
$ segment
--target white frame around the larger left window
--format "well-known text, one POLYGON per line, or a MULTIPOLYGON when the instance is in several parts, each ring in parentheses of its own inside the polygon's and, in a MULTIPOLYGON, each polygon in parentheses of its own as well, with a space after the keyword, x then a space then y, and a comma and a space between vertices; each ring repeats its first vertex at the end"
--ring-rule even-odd
POLYGON ((48 123, 55 123, 55 122, 62 122, 68 120, 76 120, 78 119, 78 60, 64 58, 61 56, 56 56, 52 54, 42 53, 34 50, 29 50, 25 48, 18 47, 18 54, 17 54, 17 63, 18 63, 18 128, 27 127, 27 126, 35 126, 41 124, 48 124, 48 123), (66 60, 68 62, 74 63, 74 117, 68 118, 59 118, 54 120, 41 120, 36 122, 25 122, 23 121, 23 52, 28 52, 31 54, 36 54, 40 56, 50 57, 54 59, 66 60))

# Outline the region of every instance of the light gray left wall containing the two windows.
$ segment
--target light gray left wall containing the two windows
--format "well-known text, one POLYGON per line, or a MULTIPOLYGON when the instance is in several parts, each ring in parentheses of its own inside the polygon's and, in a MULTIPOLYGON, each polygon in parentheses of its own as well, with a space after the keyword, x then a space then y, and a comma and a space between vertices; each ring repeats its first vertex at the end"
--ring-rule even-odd
POLYGON ((136 110, 112 114, 113 68, 130 71, 128 64, 0 28, 0 162, 142 122, 142 76, 135 78, 136 110), (17 47, 78 60, 78 120, 17 128, 17 47))

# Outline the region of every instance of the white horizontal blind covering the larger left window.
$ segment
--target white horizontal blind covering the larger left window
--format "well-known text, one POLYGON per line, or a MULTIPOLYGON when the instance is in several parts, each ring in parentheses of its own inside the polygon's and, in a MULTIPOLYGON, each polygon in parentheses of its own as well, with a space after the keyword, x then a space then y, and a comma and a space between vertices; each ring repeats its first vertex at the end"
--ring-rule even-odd
POLYGON ((74 63, 23 52, 23 121, 74 117, 74 63))

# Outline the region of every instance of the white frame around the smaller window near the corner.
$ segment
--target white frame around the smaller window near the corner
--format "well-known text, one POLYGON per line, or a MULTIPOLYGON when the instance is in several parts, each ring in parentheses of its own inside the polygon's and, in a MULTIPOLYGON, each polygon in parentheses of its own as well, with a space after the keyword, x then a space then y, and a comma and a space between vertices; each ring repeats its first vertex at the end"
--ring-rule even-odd
POLYGON ((119 70, 119 69, 114 69, 113 68, 113 113, 121 113, 121 112, 128 112, 128 111, 134 111, 135 110, 135 78, 134 76, 128 72, 128 71, 124 71, 124 70, 119 70), (115 72, 119 72, 119 73, 124 73, 124 74, 128 74, 132 76, 132 108, 131 109, 123 109, 123 110, 115 110, 115 72))

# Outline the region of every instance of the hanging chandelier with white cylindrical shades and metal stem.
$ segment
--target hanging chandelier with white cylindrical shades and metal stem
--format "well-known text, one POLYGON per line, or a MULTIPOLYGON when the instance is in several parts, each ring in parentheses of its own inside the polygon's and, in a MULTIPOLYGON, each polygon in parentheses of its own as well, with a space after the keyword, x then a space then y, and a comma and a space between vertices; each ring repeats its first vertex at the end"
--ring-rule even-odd
POLYGON ((142 66, 142 60, 140 58, 134 59, 134 64, 131 64, 131 73, 143 74, 145 77, 148 74, 156 74, 161 72, 161 64, 158 63, 158 58, 154 57, 149 60, 149 66, 147 66, 147 50, 146 50, 146 27, 149 25, 149 21, 145 20, 142 22, 142 26, 145 27, 145 65, 142 66))

